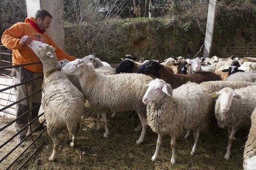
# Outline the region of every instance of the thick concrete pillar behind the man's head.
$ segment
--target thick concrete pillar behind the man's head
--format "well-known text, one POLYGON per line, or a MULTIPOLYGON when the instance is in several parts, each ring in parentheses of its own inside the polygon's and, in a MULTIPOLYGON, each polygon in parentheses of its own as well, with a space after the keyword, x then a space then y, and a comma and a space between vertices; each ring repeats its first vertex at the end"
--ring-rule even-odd
POLYGON ((53 41, 63 50, 65 49, 64 36, 64 9, 63 0, 26 0, 27 16, 35 16, 39 9, 48 11, 52 16, 50 28, 46 30, 53 41))

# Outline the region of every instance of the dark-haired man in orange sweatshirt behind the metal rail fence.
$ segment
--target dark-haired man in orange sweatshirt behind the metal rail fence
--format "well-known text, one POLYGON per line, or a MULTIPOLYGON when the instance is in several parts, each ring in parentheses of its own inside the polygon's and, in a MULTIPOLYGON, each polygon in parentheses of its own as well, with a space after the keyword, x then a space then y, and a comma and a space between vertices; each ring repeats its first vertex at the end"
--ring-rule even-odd
MULTIPOLYGON (((60 49, 44 32, 47 28, 50 28, 50 23, 52 16, 46 10, 40 9, 36 12, 35 18, 27 17, 25 22, 18 22, 14 24, 11 28, 7 29, 2 35, 2 44, 5 45, 8 49, 13 49, 12 63, 13 65, 25 64, 25 63, 34 63, 39 62, 40 59, 37 55, 30 49, 27 45, 30 44, 32 40, 37 40, 48 45, 52 45, 56 48, 56 56, 58 60, 64 58, 68 60, 75 60, 74 57, 66 54, 62 49, 60 49)), ((33 78, 38 78, 43 76, 43 65, 26 65, 24 67, 15 67, 12 69, 12 76, 14 77, 14 84, 18 84, 33 78)), ((37 79, 35 81, 30 81, 26 85, 20 85, 15 87, 15 96, 16 101, 24 98, 27 95, 30 95, 34 92, 37 92, 41 89, 42 79, 37 79)), ((35 94, 34 96, 23 100, 16 105, 16 117, 21 116, 29 108, 35 107, 36 105, 41 104, 42 94, 41 92, 35 94)), ((39 107, 33 109, 30 112, 30 121, 35 119, 38 116, 39 107)), ((28 123, 28 114, 21 117, 16 121, 16 132, 24 128, 28 123)), ((34 130, 39 125, 39 120, 37 119, 32 123, 31 128, 34 130)), ((45 126, 37 128, 41 130, 45 126)), ((18 134, 17 142, 20 143, 21 140, 25 138, 27 134, 28 127, 25 128, 20 134, 18 134)), ((24 143, 21 143, 21 146, 24 146, 24 143)))

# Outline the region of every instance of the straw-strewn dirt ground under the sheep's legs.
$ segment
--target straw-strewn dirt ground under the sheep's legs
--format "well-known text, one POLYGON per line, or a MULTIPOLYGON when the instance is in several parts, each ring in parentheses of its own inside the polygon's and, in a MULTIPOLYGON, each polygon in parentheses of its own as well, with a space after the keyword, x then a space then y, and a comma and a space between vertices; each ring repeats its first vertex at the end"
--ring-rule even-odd
MULTIPOLYGON (((144 142, 136 145, 140 132, 132 132, 139 123, 139 118, 134 116, 128 118, 130 113, 119 113, 117 118, 111 119, 108 113, 108 127, 110 135, 103 139, 104 130, 97 131, 96 115, 91 114, 88 103, 85 107, 85 119, 82 120, 78 134, 77 145, 71 148, 71 138, 67 132, 60 135, 61 143, 57 159, 49 162, 53 150, 53 142, 48 134, 43 134, 40 139, 41 149, 32 157, 24 169, 29 170, 84 170, 84 169, 121 169, 121 170, 241 170, 242 154, 248 128, 237 132, 236 140, 233 142, 232 156, 230 161, 224 161, 225 148, 227 146, 227 131, 219 128, 216 122, 211 123, 210 130, 201 134, 196 154, 192 157, 194 139, 180 137, 176 141, 176 162, 175 166, 170 165, 171 161, 171 139, 165 135, 159 150, 156 162, 150 159, 155 152, 157 134, 150 128, 146 131, 144 142)), ((28 155, 32 151, 27 153, 28 155)), ((18 161, 14 168, 17 168, 25 159, 18 161)))

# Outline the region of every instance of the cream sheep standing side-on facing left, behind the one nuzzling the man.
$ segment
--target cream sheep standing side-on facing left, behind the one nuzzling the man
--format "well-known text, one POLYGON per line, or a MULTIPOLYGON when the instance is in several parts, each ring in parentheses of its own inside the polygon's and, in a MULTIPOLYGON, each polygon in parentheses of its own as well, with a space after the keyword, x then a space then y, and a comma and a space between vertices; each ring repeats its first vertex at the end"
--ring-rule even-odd
MULTIPOLYGON (((142 123, 142 133, 136 144, 143 142, 147 128, 146 106, 142 103, 142 97, 146 92, 145 85, 151 77, 143 74, 97 74, 91 64, 76 59, 62 68, 62 73, 78 75, 83 92, 89 101, 92 110, 101 113, 105 134, 109 134, 107 128, 106 111, 115 110, 126 112, 135 110, 142 123)), ((101 128, 100 124, 99 127, 101 128)), ((140 130, 138 126, 135 131, 140 130)))

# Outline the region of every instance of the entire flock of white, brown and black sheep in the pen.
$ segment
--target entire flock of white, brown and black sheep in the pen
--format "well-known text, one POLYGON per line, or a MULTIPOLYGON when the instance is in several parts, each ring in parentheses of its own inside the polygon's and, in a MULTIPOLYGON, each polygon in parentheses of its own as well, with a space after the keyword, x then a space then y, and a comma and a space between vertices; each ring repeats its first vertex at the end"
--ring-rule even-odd
POLYGON ((109 134, 106 112, 135 111, 140 123, 135 131, 144 140, 147 126, 158 134, 155 161, 163 134, 171 136, 171 164, 176 163, 176 138, 194 132, 191 155, 197 148, 200 132, 208 129, 212 112, 218 125, 228 128, 229 139, 224 159, 229 160, 235 132, 251 125, 245 144, 246 170, 256 169, 256 59, 255 58, 168 58, 139 63, 126 56, 114 69, 94 55, 74 61, 57 61, 55 49, 42 42, 32 41, 29 47, 43 63, 42 107, 46 114, 48 134, 54 148, 49 161, 54 161, 58 134, 67 128, 75 146, 83 104, 88 100, 97 114, 98 129, 101 119, 104 138, 109 134), (119 74, 121 73, 121 74, 119 74), (225 80, 225 81, 224 81, 225 80), (219 96, 218 98, 216 96, 219 96), (186 104, 189 103, 189 104, 186 104), (214 109, 215 108, 215 109, 214 109), (215 111, 214 111, 215 110, 215 111))

